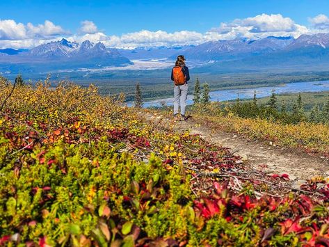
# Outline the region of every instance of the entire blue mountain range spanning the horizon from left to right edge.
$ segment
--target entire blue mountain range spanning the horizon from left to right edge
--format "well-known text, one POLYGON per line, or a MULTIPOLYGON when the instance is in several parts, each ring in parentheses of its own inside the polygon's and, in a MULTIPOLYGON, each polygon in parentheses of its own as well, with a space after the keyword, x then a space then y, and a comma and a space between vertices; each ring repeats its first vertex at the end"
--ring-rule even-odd
MULTIPOLYGON (((0 50, 0 72, 49 72, 106 66, 125 67, 131 60, 163 59, 175 61, 183 54, 187 62, 198 62, 195 72, 239 72, 277 70, 278 68, 328 67, 329 34, 316 33, 292 37, 267 37, 258 40, 236 38, 181 47, 106 48, 85 40, 49 42, 33 49, 0 50)), ((197 63, 195 63, 197 64, 197 63)))

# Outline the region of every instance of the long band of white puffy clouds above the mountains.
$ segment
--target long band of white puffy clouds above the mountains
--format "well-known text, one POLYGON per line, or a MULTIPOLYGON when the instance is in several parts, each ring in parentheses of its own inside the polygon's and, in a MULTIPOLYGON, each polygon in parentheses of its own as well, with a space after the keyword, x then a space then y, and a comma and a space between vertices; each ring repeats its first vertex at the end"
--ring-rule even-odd
POLYGON ((179 45, 200 45, 207 41, 232 40, 234 38, 250 38, 256 40, 268 36, 292 36, 298 38, 302 34, 329 32, 329 18, 326 15, 317 15, 308 19, 310 25, 296 24, 293 19, 276 15, 257 15, 245 19, 234 19, 232 22, 222 22, 218 27, 209 29, 205 33, 197 31, 166 31, 141 30, 133 33, 107 35, 99 31, 96 24, 90 20, 81 22, 80 28, 71 34, 63 27, 46 20, 44 24, 17 23, 13 19, 0 19, 0 49, 31 48, 37 45, 61 40, 90 40, 103 42, 107 47, 134 48, 159 47, 179 45))

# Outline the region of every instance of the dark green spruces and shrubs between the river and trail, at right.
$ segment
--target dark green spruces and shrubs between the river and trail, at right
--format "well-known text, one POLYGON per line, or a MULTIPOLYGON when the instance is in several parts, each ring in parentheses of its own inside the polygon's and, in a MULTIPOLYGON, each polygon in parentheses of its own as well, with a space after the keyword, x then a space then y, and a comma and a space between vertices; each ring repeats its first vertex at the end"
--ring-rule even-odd
POLYGON ((314 106, 310 113, 305 113, 300 93, 298 94, 298 98, 293 104, 291 111, 287 111, 287 106, 284 102, 282 102, 282 106, 279 109, 278 99, 274 90, 267 104, 257 104, 257 95, 255 91, 252 102, 241 103, 238 97, 235 104, 228 106, 227 111, 231 111, 242 118, 263 118, 268 120, 279 120, 284 123, 329 123, 329 99, 322 109, 320 109, 319 106, 314 106))

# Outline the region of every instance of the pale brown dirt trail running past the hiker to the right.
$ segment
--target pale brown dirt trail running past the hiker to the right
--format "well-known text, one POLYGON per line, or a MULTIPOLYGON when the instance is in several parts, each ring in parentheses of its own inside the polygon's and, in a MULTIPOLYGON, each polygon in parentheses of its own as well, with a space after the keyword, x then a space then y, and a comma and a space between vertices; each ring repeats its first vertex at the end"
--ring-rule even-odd
POLYGON ((250 141, 236 134, 214 131, 207 126, 198 125, 191 118, 175 122, 162 115, 147 114, 146 117, 163 127, 199 134, 209 143, 230 148, 231 152, 239 154, 255 170, 279 175, 286 173, 291 182, 298 183, 300 180, 309 180, 319 175, 329 177, 329 161, 325 157, 311 156, 296 148, 280 148, 261 141, 250 141))

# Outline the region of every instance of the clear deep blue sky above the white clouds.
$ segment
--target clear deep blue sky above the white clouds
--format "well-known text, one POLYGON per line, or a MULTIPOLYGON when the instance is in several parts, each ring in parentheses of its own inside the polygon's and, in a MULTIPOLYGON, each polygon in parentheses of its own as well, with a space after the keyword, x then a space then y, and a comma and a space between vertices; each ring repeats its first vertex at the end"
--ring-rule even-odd
POLYGON ((282 14, 299 24, 320 13, 329 15, 328 0, 222 0, 222 1, 0 1, 1 19, 39 24, 49 19, 75 31, 88 19, 109 35, 150 31, 204 32, 220 22, 262 13, 282 14), (180 15, 180 17, 179 17, 180 15))

